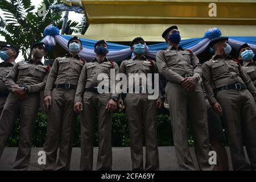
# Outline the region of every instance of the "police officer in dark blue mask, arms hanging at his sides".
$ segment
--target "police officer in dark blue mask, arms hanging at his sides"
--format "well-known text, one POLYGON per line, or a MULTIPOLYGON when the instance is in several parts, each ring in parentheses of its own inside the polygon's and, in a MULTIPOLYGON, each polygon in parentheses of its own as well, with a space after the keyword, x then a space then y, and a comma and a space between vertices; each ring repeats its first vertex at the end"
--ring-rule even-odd
MULTIPOLYGON (((110 72, 119 73, 117 63, 106 58, 108 45, 105 40, 98 41, 94 46, 97 57, 86 63, 82 68, 76 90, 74 110, 82 113, 81 119, 81 170, 93 168, 93 141, 94 126, 98 118, 98 159, 97 170, 112 170, 112 113, 117 109, 118 94, 110 90, 110 72), (97 77, 104 73, 105 84, 97 77), (101 93, 104 87, 104 93, 101 93), (101 94, 100 94, 100 93, 101 94)), ((114 83, 117 83, 115 81, 114 83)))

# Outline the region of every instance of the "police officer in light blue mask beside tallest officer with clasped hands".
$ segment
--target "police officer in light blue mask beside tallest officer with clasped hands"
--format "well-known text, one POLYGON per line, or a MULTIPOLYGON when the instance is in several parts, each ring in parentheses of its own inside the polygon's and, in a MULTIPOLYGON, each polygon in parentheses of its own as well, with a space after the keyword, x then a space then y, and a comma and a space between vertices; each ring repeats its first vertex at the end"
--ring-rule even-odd
MULTIPOLYGON (((156 108, 163 105, 159 98, 150 100, 147 92, 148 85, 139 83, 139 92, 135 91, 135 82, 129 85, 129 79, 133 74, 158 73, 155 61, 147 60, 145 52, 145 42, 142 38, 135 38, 130 44, 134 57, 130 60, 122 61, 120 72, 127 76, 127 94, 125 98, 127 121, 130 133, 131 162, 133 171, 144 170, 143 164, 143 130, 146 142, 146 170, 159 170, 158 139, 156 127, 156 108), (129 92, 129 88, 133 92, 129 92), (144 92, 143 92, 144 90, 144 92)), ((147 83, 149 84, 149 83, 147 83)), ((150 85, 152 86, 152 85, 150 85)), ((159 88, 158 88, 159 89, 159 88)))

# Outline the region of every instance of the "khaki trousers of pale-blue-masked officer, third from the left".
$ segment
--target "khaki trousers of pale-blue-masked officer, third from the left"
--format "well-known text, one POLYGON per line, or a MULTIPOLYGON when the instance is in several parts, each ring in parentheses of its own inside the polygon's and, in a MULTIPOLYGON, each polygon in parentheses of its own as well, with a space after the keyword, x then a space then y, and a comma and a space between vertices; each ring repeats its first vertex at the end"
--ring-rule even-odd
POLYGON ((44 170, 69 170, 77 119, 77 114, 73 111, 75 93, 75 89, 52 90, 52 104, 49 107, 47 137, 44 143, 44 170), (60 150, 57 160, 58 146, 60 150))

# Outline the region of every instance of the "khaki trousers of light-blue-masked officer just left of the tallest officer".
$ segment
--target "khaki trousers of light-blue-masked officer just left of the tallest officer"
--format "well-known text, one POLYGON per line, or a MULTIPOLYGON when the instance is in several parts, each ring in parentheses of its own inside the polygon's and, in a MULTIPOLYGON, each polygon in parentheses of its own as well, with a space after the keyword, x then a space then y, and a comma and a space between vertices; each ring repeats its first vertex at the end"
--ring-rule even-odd
POLYGON ((148 94, 127 94, 125 105, 130 133, 132 169, 134 171, 144 170, 144 131, 146 143, 145 170, 159 170, 156 100, 148 100, 148 94))

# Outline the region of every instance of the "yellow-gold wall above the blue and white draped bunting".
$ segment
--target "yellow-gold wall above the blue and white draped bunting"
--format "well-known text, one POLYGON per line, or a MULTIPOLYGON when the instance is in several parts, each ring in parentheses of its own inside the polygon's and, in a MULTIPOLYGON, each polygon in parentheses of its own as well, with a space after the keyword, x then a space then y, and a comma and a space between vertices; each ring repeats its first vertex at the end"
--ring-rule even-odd
POLYGON ((82 1, 89 28, 82 37, 113 42, 143 36, 162 42, 168 26, 178 24, 183 39, 204 36, 218 27, 227 36, 256 36, 256 0, 101 0, 82 1), (210 17, 209 3, 217 5, 217 17, 210 17))

